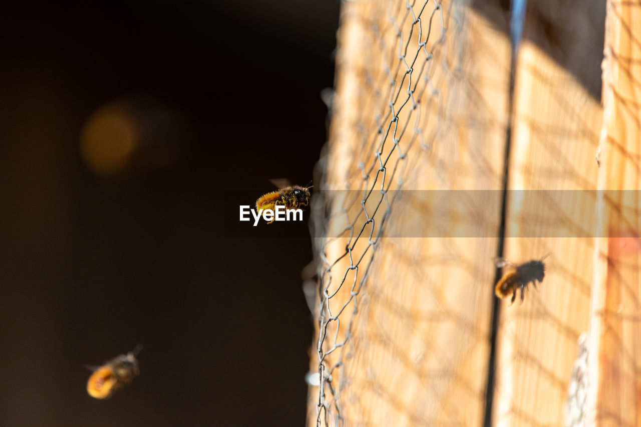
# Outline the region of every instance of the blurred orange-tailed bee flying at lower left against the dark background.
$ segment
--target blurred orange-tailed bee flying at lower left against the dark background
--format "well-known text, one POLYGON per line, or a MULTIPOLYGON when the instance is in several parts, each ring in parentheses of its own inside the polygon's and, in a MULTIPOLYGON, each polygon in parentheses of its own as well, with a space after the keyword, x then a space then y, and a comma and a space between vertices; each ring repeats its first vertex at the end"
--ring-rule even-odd
POLYGON ((126 355, 114 357, 99 366, 87 381, 87 392, 89 396, 96 399, 108 399, 113 392, 124 387, 133 380, 133 377, 140 375, 140 367, 136 356, 142 350, 138 344, 133 351, 126 355))

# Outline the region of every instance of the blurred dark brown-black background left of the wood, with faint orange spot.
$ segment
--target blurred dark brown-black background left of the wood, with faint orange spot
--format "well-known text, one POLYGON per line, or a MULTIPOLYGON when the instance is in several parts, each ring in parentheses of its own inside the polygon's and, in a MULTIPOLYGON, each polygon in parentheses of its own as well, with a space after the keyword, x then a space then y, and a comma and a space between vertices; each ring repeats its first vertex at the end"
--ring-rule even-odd
POLYGON ((310 239, 224 217, 312 179, 339 4, 231 3, 0 17, 1 426, 304 423, 310 239), (138 343, 90 398, 85 365, 138 343))

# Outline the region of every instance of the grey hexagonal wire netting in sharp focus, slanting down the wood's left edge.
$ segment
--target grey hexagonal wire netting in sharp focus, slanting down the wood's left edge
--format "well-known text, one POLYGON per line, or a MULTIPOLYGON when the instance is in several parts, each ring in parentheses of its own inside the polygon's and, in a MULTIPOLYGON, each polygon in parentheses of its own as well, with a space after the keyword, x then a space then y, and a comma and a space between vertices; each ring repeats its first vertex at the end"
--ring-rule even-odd
MULTIPOLYGON (((324 225, 331 223, 334 216, 345 216, 348 236, 346 241, 343 234, 322 241, 317 248, 322 262, 317 343, 320 378, 317 425, 321 421, 328 426, 341 425, 345 420, 340 394, 346 380, 339 372, 344 370, 345 353, 349 351, 347 344, 353 336, 359 296, 394 202, 387 191, 393 184, 395 188, 402 186, 408 149, 417 138, 424 138, 419 130, 420 105, 417 100, 425 91, 430 95, 437 93, 429 78, 429 68, 435 65, 435 51, 445 42, 442 4, 429 1, 419 4, 387 2, 381 6, 384 8, 384 12, 381 10, 383 16, 389 17, 387 22, 363 22, 369 27, 372 37, 366 42, 387 52, 379 58, 363 58, 364 89, 371 98, 364 101, 376 106, 378 111, 374 120, 358 118, 361 143, 357 149, 359 153, 354 157, 362 159, 358 164, 362 175, 349 177, 345 185, 347 188, 356 186, 362 191, 339 193, 348 196, 343 197, 344 200, 326 200, 333 212, 324 218, 324 225), (379 27, 381 24, 382 28, 379 27), (390 38, 390 33, 395 34, 394 38, 390 38), (401 122, 399 115, 406 110, 410 111, 401 122), (415 119, 413 127, 410 127, 412 115, 415 119), (414 138, 402 147, 400 141, 408 127, 414 138), (336 259, 328 258, 326 248, 335 242, 345 245, 345 250, 336 259), (334 278, 333 267, 342 259, 348 259, 349 266, 342 277, 334 278)), ((349 29, 344 28, 343 31, 349 29)), ((428 150, 431 142, 420 141, 421 149, 428 150)))

